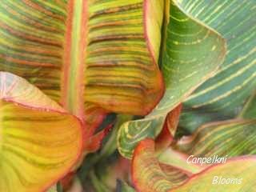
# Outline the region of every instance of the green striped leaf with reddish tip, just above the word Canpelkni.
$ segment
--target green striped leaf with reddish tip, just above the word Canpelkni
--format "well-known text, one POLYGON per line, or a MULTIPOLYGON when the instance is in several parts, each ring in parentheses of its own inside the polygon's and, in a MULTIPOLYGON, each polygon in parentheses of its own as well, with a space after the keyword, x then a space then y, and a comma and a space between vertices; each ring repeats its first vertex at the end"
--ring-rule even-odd
POLYGON ((173 147, 195 157, 237 157, 256 154, 256 121, 231 120, 213 122, 183 137, 173 147))

